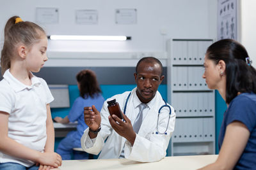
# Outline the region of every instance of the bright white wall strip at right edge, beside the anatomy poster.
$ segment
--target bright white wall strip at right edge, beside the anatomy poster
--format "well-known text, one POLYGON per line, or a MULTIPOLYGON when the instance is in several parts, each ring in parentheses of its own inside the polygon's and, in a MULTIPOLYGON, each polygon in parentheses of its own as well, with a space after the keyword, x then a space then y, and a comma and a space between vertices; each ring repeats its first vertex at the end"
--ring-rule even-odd
POLYGON ((252 66, 256 66, 256 1, 241 0, 241 43, 245 46, 252 66))

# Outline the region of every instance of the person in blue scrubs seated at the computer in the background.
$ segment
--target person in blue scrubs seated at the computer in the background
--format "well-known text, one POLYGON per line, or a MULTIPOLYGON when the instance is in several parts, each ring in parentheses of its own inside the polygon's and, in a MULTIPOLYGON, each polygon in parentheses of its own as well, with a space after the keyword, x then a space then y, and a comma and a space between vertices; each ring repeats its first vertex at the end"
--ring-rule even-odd
MULTIPOLYGON (((74 101, 68 116, 65 118, 55 117, 54 120, 59 123, 67 124, 68 122, 78 121, 77 131, 72 131, 67 134, 67 137, 62 139, 56 150, 63 160, 71 159, 72 148, 81 148, 80 139, 87 125, 84 124, 84 106, 92 106, 100 110, 104 103, 104 98, 101 95, 99 83, 96 75, 91 70, 80 71, 76 75, 77 86, 80 96, 74 101)), ((74 159, 88 159, 88 153, 79 154, 74 152, 74 159)))

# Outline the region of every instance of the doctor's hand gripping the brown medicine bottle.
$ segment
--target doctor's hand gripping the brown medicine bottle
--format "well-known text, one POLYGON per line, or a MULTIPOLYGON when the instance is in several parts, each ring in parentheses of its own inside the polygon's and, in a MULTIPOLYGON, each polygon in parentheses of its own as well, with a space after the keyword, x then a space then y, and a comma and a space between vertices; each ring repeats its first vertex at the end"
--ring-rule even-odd
POLYGON ((118 118, 116 115, 112 115, 109 116, 109 123, 111 124, 111 126, 113 127, 113 129, 116 131, 116 133, 118 133, 120 136, 123 136, 124 138, 127 139, 127 141, 129 141, 131 143, 131 145, 133 146, 133 143, 135 141, 136 138, 136 133, 133 131, 132 128, 132 124, 131 124, 131 120, 129 118, 127 118, 126 115, 123 114, 124 120, 121 120, 120 118, 118 118), (116 123, 118 122, 118 123, 116 123))

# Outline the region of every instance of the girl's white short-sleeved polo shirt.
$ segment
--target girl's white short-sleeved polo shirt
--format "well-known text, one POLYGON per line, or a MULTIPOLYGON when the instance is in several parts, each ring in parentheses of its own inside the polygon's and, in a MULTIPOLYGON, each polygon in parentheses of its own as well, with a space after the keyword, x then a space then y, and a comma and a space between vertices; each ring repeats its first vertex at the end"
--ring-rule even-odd
MULTIPOLYGON (((0 111, 9 113, 8 137, 33 150, 44 152, 46 136, 46 104, 54 98, 47 83, 30 73, 32 85, 24 85, 10 70, 0 81, 0 111)), ((35 162, 18 159, 0 152, 0 162, 16 162, 32 166, 35 162)))

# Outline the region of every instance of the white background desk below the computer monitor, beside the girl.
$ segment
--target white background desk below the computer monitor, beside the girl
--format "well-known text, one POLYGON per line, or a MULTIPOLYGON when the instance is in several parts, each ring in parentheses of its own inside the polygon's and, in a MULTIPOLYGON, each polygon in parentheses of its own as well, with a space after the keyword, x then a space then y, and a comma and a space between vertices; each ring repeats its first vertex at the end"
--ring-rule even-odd
POLYGON ((66 137, 68 132, 76 131, 77 122, 75 123, 68 123, 68 124, 60 124, 53 122, 54 132, 56 138, 63 138, 66 137))

